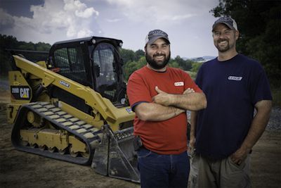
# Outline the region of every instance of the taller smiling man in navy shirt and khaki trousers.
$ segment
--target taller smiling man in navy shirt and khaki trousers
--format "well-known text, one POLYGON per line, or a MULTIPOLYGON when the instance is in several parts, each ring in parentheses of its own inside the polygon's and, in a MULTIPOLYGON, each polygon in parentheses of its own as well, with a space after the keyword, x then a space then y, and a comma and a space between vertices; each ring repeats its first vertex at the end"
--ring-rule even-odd
POLYGON ((219 18, 212 33, 218 57, 196 78, 207 108, 191 114, 190 145, 200 157, 197 186, 251 187, 249 153, 271 111, 268 79, 259 62, 237 53, 235 20, 219 18))

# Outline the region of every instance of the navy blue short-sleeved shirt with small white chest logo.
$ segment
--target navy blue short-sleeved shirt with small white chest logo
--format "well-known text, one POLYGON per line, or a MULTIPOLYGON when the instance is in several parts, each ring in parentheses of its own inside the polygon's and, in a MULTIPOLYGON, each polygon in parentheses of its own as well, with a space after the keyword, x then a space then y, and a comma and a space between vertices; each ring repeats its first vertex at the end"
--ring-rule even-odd
POLYGON ((207 108, 197 113, 197 152, 226 158, 247 136, 256 102, 272 100, 266 73, 259 62, 238 54, 204 63, 196 83, 207 96, 207 108))

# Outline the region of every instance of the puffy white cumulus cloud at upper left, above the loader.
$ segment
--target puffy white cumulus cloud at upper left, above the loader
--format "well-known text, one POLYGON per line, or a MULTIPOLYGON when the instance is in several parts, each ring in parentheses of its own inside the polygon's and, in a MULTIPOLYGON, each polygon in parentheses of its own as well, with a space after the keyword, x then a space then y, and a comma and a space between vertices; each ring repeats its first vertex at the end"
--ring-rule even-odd
POLYGON ((1 27, 13 25, 11 34, 24 40, 32 40, 31 36, 23 36, 27 33, 56 35, 65 32, 67 37, 89 37, 93 35, 91 25, 99 15, 93 7, 79 0, 55 1, 55 4, 45 0, 44 5, 30 6, 30 11, 32 18, 11 16, 0 9, 1 27))

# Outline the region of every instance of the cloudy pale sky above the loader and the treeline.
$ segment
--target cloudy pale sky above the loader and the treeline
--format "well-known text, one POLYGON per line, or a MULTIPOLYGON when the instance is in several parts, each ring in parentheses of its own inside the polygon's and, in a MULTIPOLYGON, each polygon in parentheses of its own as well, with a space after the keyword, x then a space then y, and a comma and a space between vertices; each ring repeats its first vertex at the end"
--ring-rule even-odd
POLYGON ((0 34, 18 41, 81 37, 121 39, 122 48, 145 46, 150 30, 169 35, 171 57, 217 56, 209 12, 218 0, 0 0, 0 34))

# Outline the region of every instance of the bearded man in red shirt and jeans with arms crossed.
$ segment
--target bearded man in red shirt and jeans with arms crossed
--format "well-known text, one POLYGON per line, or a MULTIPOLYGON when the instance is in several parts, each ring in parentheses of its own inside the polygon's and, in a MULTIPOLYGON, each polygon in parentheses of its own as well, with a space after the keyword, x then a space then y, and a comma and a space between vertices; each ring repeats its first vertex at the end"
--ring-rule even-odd
POLYGON ((152 30, 145 39, 147 65, 136 70, 127 95, 136 113, 134 134, 141 139, 138 168, 141 187, 187 187, 186 112, 206 108, 207 99, 188 73, 170 68, 166 32, 152 30))

